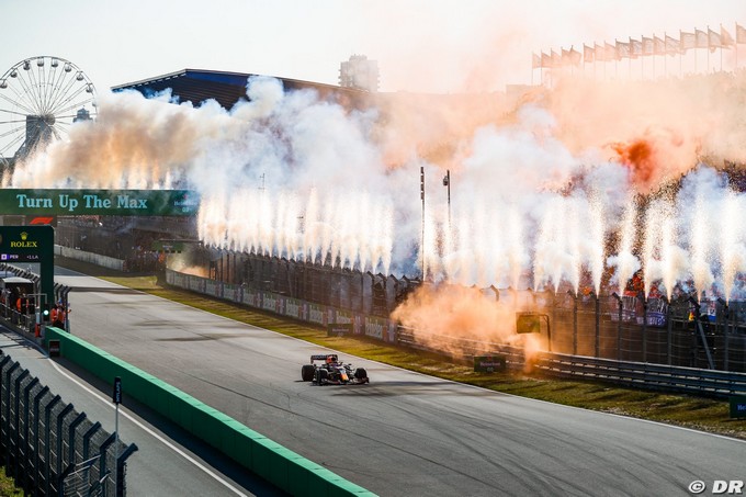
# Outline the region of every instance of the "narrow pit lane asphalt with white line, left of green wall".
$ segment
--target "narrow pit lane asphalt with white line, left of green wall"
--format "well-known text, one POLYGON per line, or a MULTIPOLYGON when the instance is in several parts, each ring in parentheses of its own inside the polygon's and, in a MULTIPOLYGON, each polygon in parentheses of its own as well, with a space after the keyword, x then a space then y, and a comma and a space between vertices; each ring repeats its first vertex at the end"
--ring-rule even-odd
MULTIPOLYGON (((35 344, 12 331, 0 331, 0 349, 38 377, 41 384, 84 413, 91 422, 113 433, 117 426, 112 388, 64 359, 49 359, 35 344)), ((125 443, 137 452, 127 459, 131 496, 275 496, 282 495, 263 479, 247 474, 233 461, 159 418, 147 406, 125 397, 118 428, 125 443), (185 492, 189 489, 189 492, 185 492)))

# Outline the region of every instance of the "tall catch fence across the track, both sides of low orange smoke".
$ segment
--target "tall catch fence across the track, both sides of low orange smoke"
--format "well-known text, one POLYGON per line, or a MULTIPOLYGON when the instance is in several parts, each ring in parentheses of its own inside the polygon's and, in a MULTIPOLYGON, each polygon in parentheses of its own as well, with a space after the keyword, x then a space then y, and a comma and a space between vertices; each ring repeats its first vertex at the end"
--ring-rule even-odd
MULTIPOLYGON (((206 253, 206 252, 205 252, 206 253)), ((304 263, 240 252, 204 256, 211 279, 387 317, 422 283, 329 264, 304 263)), ((558 353, 746 372, 746 303, 697 303, 680 295, 644 300, 615 293, 578 295, 573 291, 515 292, 494 287, 484 298, 500 301, 516 312, 549 317, 544 346, 558 353)), ((496 328, 512 324, 496 323, 496 328)), ((468 334, 465 332, 464 336, 468 334)), ((498 334, 496 334, 498 335, 498 334)), ((490 340, 487 340, 490 341, 490 340)), ((488 349, 488 347, 487 347, 488 349)))

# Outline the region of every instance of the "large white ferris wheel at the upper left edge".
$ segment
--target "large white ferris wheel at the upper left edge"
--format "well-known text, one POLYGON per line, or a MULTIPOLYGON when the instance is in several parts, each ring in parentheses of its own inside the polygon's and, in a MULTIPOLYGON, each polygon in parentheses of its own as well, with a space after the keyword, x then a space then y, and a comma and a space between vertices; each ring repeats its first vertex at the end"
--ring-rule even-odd
POLYGON ((75 64, 50 56, 21 60, 0 77, 0 165, 23 160, 95 114, 95 88, 75 64))

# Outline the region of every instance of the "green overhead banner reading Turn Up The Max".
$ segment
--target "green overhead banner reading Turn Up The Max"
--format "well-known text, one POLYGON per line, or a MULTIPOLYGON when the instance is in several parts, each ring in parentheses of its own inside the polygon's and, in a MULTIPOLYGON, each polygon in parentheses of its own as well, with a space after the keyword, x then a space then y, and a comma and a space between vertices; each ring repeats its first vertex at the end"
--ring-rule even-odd
POLYGON ((199 206, 191 190, 0 189, 0 215, 192 216, 199 206))

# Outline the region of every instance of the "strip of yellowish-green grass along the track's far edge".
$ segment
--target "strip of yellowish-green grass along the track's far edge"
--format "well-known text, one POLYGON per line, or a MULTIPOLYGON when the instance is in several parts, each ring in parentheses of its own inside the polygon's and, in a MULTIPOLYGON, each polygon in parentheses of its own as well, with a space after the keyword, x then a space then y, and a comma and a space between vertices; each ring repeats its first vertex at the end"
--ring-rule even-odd
POLYGON ((731 419, 727 400, 624 388, 595 381, 546 377, 541 372, 475 373, 473 366, 434 353, 365 338, 327 337, 326 329, 196 293, 171 289, 155 275, 132 275, 70 259, 58 266, 94 275, 212 314, 251 324, 344 353, 496 392, 631 416, 746 440, 746 419, 731 419))

